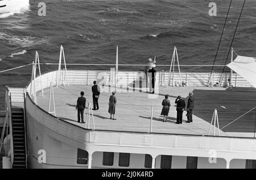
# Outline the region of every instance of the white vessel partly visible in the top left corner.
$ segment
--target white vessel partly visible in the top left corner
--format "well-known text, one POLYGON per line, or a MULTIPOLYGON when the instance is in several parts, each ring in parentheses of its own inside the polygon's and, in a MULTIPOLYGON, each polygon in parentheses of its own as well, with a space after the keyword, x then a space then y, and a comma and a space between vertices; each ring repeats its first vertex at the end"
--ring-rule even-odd
POLYGON ((1 0, 0 1, 0 14, 20 11, 29 6, 29 0, 1 0))

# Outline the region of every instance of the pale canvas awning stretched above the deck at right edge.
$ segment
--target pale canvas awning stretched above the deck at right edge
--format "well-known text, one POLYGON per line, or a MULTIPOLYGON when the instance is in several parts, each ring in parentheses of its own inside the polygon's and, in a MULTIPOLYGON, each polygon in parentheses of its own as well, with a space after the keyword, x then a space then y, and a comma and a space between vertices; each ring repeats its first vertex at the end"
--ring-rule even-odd
POLYGON ((256 88, 256 58, 238 55, 227 66, 256 88))

